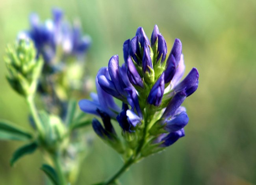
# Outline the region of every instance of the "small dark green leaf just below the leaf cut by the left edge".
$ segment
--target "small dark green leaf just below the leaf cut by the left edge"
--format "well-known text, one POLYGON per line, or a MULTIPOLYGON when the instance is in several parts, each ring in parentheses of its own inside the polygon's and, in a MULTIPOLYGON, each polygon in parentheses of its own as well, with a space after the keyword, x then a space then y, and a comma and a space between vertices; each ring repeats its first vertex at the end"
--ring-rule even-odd
POLYGON ((22 156, 26 154, 32 154, 37 149, 37 147, 38 147, 37 143, 33 142, 17 149, 17 151, 14 152, 13 157, 11 158, 11 161, 10 161, 11 166, 13 166, 13 164, 22 156))

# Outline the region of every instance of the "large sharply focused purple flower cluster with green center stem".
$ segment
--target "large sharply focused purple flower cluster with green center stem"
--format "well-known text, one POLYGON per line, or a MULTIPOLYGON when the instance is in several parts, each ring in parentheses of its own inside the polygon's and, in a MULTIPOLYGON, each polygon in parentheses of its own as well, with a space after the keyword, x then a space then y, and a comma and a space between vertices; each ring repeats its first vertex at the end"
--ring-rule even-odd
MULTIPOLYGON (((193 68, 181 81, 185 70, 182 43, 175 39, 167 57, 167 44, 157 25, 150 40, 139 27, 135 37, 124 42, 123 53, 122 66, 115 55, 108 68, 100 69, 96 76, 97 94, 91 94, 93 101, 81 100, 80 109, 96 115, 98 110, 105 112, 119 122, 124 133, 139 134, 138 143, 144 137, 145 145, 147 142, 158 147, 172 145, 184 136, 183 128, 189 118, 181 105, 197 90, 197 69, 193 68), (121 100, 122 109, 113 97, 121 100), (141 136, 143 130, 149 134, 141 136)), ((102 138, 117 137, 112 128, 104 129, 98 121, 93 122, 93 129, 102 138)))

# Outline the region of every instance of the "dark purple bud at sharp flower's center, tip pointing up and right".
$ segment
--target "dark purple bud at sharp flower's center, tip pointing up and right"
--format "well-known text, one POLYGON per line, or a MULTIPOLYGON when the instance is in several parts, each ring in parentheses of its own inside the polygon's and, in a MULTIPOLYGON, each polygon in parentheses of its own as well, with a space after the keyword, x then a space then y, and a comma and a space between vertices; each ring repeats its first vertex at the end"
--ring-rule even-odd
POLYGON ((159 106, 161 105, 163 93, 165 90, 165 80, 164 73, 161 74, 160 78, 153 85, 149 95, 148 95, 148 103, 151 105, 159 106))

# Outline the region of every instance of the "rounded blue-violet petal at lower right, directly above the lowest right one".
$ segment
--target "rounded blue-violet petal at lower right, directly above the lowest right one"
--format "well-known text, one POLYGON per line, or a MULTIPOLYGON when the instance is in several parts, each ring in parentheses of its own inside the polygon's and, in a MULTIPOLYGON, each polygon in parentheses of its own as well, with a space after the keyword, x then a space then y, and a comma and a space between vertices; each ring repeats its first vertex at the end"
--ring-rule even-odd
POLYGON ((181 112, 178 116, 176 116, 172 120, 167 120, 166 125, 164 127, 167 132, 175 132, 187 125, 189 118, 186 112, 181 112))

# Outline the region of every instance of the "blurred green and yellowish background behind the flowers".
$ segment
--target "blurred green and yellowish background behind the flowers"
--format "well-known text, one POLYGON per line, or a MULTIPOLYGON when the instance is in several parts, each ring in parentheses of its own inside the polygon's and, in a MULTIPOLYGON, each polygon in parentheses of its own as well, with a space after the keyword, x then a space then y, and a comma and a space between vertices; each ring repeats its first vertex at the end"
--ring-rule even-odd
MULTIPOLYGON (((6 44, 29 27, 32 11, 45 20, 54 6, 69 20, 79 18, 84 33, 92 37, 86 60, 92 78, 112 55, 122 59, 122 44, 137 27, 150 36, 155 24, 169 51, 175 38, 182 41, 186 74, 194 66, 199 71, 198 90, 184 102, 190 118, 186 137, 133 165, 121 177, 124 185, 256 184, 255 0, 0 0, 0 58, 6 44)), ((2 60, 0 118, 29 129, 28 108, 5 75, 2 60)), ((39 152, 9 167, 20 144, 0 141, 0 184, 43 185, 39 152)), ((102 181, 122 165, 97 137, 92 147, 78 184, 102 181)))

